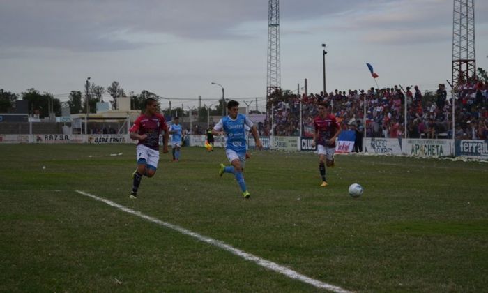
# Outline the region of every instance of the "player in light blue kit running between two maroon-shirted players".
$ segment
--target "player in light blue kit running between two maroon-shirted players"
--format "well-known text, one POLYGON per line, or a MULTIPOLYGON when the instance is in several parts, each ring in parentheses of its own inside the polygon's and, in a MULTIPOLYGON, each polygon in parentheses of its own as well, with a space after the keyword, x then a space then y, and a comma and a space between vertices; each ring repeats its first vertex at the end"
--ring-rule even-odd
POLYGON ((213 127, 213 135, 225 135, 225 153, 231 163, 231 166, 220 164, 219 175, 224 173, 232 173, 236 177, 236 181, 241 187, 243 196, 249 198, 251 195, 247 191, 243 177, 243 167, 245 166, 245 153, 247 151, 247 136, 245 126, 249 126, 252 136, 256 142, 257 149, 261 149, 263 145, 259 140, 259 133, 252 121, 245 115, 239 114, 239 103, 235 100, 227 103, 227 110, 229 115, 220 119, 220 121, 213 127))

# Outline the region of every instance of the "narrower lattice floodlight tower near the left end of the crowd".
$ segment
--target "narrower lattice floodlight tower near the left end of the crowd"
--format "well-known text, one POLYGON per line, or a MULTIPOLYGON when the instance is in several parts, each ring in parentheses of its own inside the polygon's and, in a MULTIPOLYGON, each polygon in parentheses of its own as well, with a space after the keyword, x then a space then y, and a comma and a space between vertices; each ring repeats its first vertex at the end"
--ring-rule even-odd
POLYGON ((280 1, 269 0, 268 9, 268 74, 266 82, 266 110, 269 114, 270 98, 280 91, 280 1))

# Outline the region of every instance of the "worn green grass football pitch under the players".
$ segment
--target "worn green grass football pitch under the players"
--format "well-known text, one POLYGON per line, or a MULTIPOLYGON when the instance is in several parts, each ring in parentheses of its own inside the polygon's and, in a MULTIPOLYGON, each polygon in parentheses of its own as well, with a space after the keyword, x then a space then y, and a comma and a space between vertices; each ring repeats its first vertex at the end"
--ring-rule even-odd
POLYGON ((336 156, 320 188, 313 153, 257 151, 244 200, 221 149, 183 148, 130 200, 135 146, 0 153, 1 292, 320 291, 76 190, 344 290, 487 292, 487 163, 336 156))

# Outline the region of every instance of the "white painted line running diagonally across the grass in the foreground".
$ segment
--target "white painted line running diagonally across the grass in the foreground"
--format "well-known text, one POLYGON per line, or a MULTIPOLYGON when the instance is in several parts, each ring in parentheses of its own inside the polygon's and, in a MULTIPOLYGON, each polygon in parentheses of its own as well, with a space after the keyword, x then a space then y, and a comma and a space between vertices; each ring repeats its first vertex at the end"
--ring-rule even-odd
POLYGON ((155 224, 167 227, 169 229, 176 230, 182 234, 195 237, 199 241, 203 241, 203 242, 206 242, 206 243, 211 244, 213 246, 217 246, 218 248, 221 248, 223 250, 227 250, 227 251, 229 251, 229 253, 232 253, 234 255, 242 257, 245 260, 250 260, 256 264, 259 264, 259 266, 263 266, 264 268, 270 269, 271 271, 281 273, 282 275, 287 276, 289 278, 300 280, 303 283, 310 284, 310 285, 317 287, 317 288, 330 290, 332 292, 341 292, 341 293, 351 292, 349 290, 342 289, 341 287, 337 287, 335 285, 323 283, 320 280, 314 280, 312 278, 304 276, 301 273, 293 271, 292 269, 288 269, 287 267, 282 266, 280 264, 277 264, 275 262, 271 262, 269 260, 264 260, 263 258, 257 257, 255 255, 250 254, 250 253, 245 253, 243 250, 239 250, 238 248, 234 248, 234 246, 230 246, 229 244, 226 244, 222 241, 218 241, 216 239, 212 239, 210 237, 200 235, 198 233, 192 232, 192 231, 185 229, 183 227, 180 227, 178 225, 163 222, 162 220, 158 220, 157 218, 153 218, 151 216, 146 216, 146 215, 144 215, 144 213, 141 213, 139 211, 135 211, 133 209, 129 209, 128 207, 122 206, 120 204, 116 204, 115 202, 112 202, 112 201, 107 200, 105 198, 97 197, 96 195, 91 195, 90 193, 85 193, 84 191, 76 190, 76 192, 79 194, 85 195, 87 197, 91 197, 94 200, 98 200, 100 202, 105 202, 105 204, 108 204, 109 206, 113 206, 116 209, 120 209, 121 211, 125 211, 125 213, 131 213, 134 216, 144 218, 151 223, 155 223, 155 224))

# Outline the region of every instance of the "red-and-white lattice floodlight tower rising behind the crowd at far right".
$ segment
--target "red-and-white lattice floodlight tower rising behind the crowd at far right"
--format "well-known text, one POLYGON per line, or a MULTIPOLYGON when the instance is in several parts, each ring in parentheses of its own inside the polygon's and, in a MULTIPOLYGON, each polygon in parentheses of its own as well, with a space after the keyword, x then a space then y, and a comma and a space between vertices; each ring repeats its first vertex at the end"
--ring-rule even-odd
POLYGON ((476 76, 475 1, 454 0, 452 21, 452 87, 476 76))

